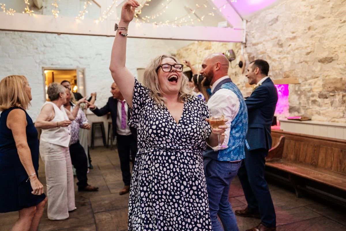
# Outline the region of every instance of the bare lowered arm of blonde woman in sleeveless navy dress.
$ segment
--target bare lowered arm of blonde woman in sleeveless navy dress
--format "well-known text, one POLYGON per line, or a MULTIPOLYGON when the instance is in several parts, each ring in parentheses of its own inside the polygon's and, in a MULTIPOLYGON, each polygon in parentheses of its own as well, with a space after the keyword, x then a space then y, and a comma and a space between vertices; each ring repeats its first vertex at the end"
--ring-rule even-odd
POLYGON ((31 188, 33 189, 31 193, 41 195, 43 193, 43 185, 36 176, 33 160, 31 159, 31 151, 26 137, 27 121, 25 112, 21 109, 13 109, 8 114, 6 124, 12 131, 19 160, 29 176, 31 188))

